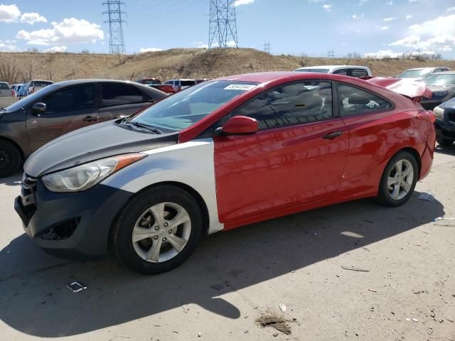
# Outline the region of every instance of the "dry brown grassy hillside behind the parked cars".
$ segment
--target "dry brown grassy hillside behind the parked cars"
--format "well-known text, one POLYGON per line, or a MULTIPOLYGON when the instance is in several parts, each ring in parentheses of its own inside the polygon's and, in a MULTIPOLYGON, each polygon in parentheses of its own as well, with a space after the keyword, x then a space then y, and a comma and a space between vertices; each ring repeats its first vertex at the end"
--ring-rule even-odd
MULTIPOLYGON (((447 66, 455 69, 454 60, 348 60, 347 58, 301 58, 269 55, 259 50, 242 49, 172 49, 137 55, 77 53, 0 53, 2 60, 15 60, 18 67, 33 58, 33 78, 54 81, 80 78, 115 78, 136 80, 142 76, 168 80, 176 77, 213 78, 245 72, 294 70, 297 67, 328 64, 366 65, 375 75, 393 76, 410 67, 447 66), (50 72, 52 70, 52 72, 50 72)), ((19 80, 21 81, 21 80, 19 80)))

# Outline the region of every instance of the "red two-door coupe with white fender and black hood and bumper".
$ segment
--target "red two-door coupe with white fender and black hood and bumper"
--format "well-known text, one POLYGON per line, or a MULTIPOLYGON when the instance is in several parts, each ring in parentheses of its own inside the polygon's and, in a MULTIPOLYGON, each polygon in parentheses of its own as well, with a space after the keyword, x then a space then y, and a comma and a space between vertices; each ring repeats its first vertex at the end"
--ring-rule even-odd
POLYGON ((40 148, 16 212, 51 254, 109 248, 157 274, 205 234, 363 197, 402 205, 432 166, 434 114, 413 102, 423 86, 409 99, 381 82, 306 72, 204 82, 40 148))

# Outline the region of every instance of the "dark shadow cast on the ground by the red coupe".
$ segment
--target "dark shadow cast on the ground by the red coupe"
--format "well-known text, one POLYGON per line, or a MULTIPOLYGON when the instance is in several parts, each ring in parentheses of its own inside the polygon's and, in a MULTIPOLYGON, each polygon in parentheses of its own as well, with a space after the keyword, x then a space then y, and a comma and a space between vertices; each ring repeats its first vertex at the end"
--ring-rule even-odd
POLYGON ((0 319, 38 337, 78 335, 174 308, 186 311, 190 303, 237 319, 239 308, 220 298, 223 294, 444 215, 441 202, 417 200, 418 195, 402 207, 358 200, 213 234, 185 264, 159 276, 134 274, 112 260, 55 259, 22 235, 0 251, 0 269, 6 269, 0 274, 0 319), (74 280, 85 283, 87 290, 73 293, 65 288, 74 280))

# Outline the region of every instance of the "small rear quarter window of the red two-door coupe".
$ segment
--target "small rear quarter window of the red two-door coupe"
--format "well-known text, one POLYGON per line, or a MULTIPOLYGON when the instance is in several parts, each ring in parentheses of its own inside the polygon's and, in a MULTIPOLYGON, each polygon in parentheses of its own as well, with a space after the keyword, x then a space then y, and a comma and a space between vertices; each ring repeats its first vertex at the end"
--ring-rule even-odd
POLYGON ((350 87, 349 85, 338 84, 341 96, 341 112, 345 115, 365 114, 390 109, 392 104, 375 94, 350 87))

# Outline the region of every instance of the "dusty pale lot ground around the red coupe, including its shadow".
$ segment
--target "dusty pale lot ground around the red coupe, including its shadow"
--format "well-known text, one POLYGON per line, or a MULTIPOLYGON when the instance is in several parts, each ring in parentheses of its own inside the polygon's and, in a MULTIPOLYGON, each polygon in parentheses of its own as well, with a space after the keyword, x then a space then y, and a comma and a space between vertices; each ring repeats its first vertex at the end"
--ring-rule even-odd
POLYGON ((402 207, 359 200, 214 234, 161 276, 47 256, 13 212, 20 175, 2 179, 0 339, 455 340, 455 227, 433 222, 455 217, 454 179, 455 148, 439 149, 402 207), (65 288, 75 279, 87 290, 65 288), (291 333, 256 322, 267 314, 291 333))

